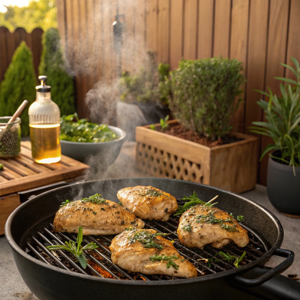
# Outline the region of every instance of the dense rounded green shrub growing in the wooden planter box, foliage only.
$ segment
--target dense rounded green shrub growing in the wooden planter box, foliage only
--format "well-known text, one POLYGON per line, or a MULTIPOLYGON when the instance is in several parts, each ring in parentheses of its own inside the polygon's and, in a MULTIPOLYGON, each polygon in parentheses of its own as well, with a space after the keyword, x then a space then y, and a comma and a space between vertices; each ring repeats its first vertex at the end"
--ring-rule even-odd
POLYGON ((241 62, 214 57, 179 62, 162 90, 170 94, 169 108, 184 127, 212 141, 231 130, 230 117, 241 101, 241 62))

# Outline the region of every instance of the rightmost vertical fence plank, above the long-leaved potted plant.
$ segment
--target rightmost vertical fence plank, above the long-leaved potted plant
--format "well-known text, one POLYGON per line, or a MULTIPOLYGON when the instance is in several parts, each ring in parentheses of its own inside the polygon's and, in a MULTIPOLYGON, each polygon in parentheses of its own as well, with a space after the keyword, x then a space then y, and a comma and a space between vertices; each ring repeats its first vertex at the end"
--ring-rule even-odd
MULTIPOLYGON (((295 68, 291 57, 295 57, 300 62, 300 1, 291 0, 290 16, 289 16, 289 36, 287 44, 286 63, 295 68)), ((286 77, 295 79, 295 75, 291 70, 286 69, 286 77)))

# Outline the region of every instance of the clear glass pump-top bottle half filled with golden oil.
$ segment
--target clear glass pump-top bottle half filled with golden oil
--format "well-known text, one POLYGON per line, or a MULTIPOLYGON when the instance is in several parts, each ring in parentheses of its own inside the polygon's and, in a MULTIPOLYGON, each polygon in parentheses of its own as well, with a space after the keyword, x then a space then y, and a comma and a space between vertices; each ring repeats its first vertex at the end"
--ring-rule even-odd
POLYGON ((47 76, 39 79, 36 100, 28 110, 32 158, 40 164, 51 164, 61 159, 60 111, 51 100, 51 86, 45 83, 47 76))

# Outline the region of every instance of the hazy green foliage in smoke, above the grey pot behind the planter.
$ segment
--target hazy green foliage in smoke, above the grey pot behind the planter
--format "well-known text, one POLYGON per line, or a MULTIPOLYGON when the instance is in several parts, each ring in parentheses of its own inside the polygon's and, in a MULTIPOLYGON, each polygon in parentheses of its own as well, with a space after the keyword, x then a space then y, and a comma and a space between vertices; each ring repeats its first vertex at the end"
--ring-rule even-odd
POLYGON ((169 64, 155 62, 155 54, 148 52, 148 61, 140 72, 130 75, 122 73, 120 78, 121 101, 127 103, 163 104, 167 105, 168 97, 161 93, 160 82, 165 80, 169 64))

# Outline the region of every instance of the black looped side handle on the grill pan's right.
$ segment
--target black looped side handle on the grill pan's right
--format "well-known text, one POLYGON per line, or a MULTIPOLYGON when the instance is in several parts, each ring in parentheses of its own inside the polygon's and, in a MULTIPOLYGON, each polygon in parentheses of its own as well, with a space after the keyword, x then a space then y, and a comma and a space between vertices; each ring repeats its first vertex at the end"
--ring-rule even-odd
POLYGON ((294 261, 295 253, 290 250, 285 249, 276 249, 273 253, 274 255, 286 257, 286 259, 277 265, 275 268, 271 268, 267 273, 257 277, 257 278, 245 278, 242 276, 236 275, 234 279, 243 286, 258 286, 270 278, 274 277, 277 274, 281 274, 285 271, 294 261))

